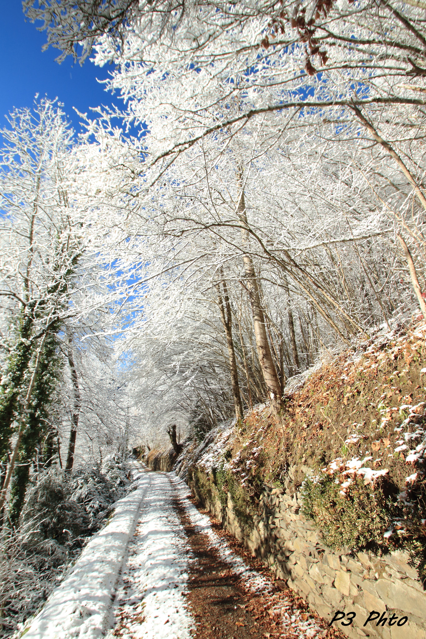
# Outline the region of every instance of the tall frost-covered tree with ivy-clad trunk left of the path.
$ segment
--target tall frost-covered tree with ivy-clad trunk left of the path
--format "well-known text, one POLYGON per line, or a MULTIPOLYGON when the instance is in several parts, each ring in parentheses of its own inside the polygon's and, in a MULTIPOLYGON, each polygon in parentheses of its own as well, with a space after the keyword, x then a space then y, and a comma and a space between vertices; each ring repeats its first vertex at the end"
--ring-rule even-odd
POLYGON ((47 412, 61 378, 58 335, 91 314, 92 331, 113 332, 126 270, 119 252, 110 254, 117 210, 96 195, 107 189, 108 173, 102 164, 91 173, 90 147, 75 139, 60 105, 43 98, 33 110, 13 111, 9 123, 0 173, 0 502, 19 461, 15 517, 33 455, 45 437, 47 449, 52 440, 47 412), (109 320, 102 326, 100 309, 109 320))

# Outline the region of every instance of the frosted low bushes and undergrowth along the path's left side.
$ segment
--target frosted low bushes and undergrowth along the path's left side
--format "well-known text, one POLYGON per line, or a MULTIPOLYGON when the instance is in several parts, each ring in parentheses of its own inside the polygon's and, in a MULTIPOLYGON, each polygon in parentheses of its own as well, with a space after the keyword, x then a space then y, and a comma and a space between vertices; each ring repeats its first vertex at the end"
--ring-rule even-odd
POLYGON ((19 636, 102 527, 110 506, 125 495, 129 468, 105 458, 102 468, 80 468, 68 477, 58 468, 37 473, 27 489, 20 528, 1 540, 2 636, 19 636))

